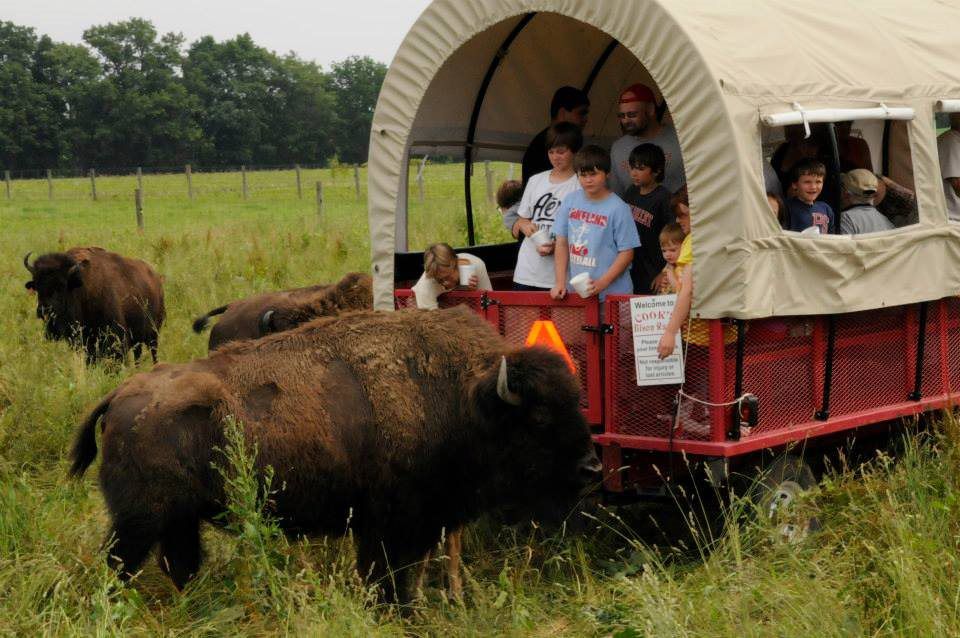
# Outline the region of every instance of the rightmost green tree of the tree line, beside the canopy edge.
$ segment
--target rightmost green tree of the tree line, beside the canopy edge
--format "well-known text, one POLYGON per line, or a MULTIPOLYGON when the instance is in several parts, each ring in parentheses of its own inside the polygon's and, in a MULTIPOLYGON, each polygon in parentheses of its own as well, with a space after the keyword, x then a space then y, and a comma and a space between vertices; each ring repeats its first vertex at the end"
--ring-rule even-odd
POLYGON ((330 85, 336 98, 337 153, 344 162, 367 161, 370 124, 387 67, 368 56, 335 62, 330 85))

